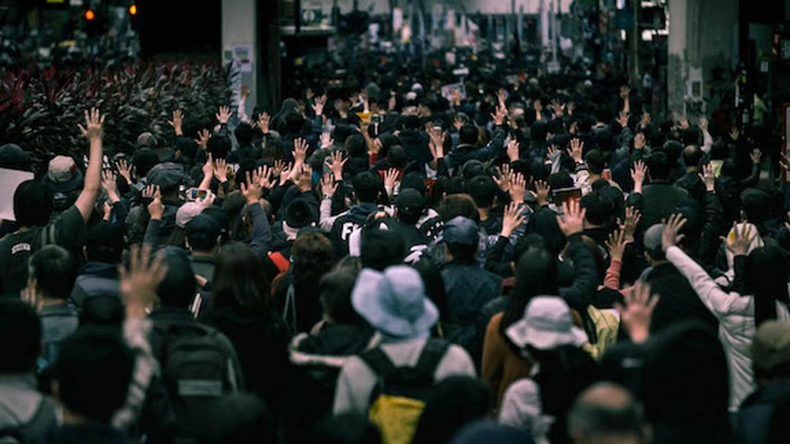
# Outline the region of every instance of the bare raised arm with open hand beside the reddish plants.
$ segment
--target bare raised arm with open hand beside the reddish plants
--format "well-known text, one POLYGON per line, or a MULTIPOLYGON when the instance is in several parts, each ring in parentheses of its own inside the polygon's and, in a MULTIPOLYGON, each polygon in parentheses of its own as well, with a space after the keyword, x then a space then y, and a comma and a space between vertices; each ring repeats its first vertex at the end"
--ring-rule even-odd
POLYGON ((91 111, 85 111, 85 126, 79 125, 82 135, 90 142, 90 151, 88 154, 88 169, 85 171, 85 186, 82 188, 77 201, 74 202, 74 206, 80 210, 82 219, 85 222, 88 222, 88 219, 91 217, 101 188, 103 124, 104 116, 99 114, 97 108, 92 108, 91 111))

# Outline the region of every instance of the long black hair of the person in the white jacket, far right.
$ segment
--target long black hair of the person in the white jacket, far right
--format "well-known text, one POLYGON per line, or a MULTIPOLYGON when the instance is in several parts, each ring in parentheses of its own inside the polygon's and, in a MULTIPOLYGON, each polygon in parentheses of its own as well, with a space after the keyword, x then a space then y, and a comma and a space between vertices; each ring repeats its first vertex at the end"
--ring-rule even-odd
POLYGON ((754 295, 754 324, 777 318, 777 301, 790 308, 788 295, 790 253, 780 246, 763 246, 749 254, 746 287, 754 295))

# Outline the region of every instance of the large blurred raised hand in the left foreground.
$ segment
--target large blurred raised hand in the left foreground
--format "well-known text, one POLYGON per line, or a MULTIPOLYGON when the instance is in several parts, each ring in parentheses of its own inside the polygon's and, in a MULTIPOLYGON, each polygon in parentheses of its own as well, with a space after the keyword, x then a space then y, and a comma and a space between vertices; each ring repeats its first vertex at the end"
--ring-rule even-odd
POLYGON ((118 266, 119 292, 130 317, 145 316, 145 310, 156 301, 156 288, 167 276, 164 252, 151 259, 152 248, 131 246, 129 266, 118 266))

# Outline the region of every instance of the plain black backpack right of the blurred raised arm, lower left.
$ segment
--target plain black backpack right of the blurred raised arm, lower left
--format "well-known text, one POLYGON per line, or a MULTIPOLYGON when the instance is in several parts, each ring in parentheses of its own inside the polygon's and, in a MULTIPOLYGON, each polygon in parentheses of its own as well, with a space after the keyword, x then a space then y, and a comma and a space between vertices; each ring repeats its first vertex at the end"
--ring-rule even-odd
POLYGON ((154 324, 152 349, 175 413, 177 438, 199 436, 213 401, 239 390, 235 352, 220 332, 198 322, 154 324))

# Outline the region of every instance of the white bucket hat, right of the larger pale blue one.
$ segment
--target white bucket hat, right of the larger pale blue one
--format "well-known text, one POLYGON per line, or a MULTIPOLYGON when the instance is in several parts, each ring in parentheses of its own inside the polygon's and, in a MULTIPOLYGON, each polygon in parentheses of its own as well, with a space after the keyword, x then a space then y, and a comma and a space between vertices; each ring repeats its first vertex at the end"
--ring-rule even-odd
POLYGON ((506 333, 518 348, 529 344, 539 350, 550 350, 561 345, 581 347, 587 342, 585 331, 574 325, 568 304, 556 296, 532 298, 524 310, 524 318, 510 325, 506 333))

